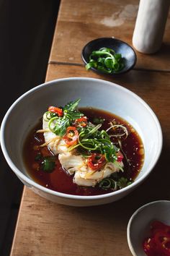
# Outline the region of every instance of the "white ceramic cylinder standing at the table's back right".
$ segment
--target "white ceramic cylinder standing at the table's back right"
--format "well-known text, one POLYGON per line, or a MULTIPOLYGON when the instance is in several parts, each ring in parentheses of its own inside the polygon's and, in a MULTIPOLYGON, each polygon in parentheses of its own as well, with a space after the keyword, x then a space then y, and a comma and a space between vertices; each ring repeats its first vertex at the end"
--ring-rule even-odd
POLYGON ((133 32, 133 46, 143 54, 161 47, 170 0, 140 0, 133 32))

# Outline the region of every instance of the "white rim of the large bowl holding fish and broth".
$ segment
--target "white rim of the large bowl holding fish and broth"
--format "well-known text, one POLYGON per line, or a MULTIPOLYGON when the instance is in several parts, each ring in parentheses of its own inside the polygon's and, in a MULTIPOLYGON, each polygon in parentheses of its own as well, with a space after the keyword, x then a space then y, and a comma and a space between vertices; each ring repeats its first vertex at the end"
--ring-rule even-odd
POLYGON ((106 80, 102 80, 102 79, 97 79, 97 78, 91 78, 91 77, 67 77, 67 78, 60 78, 57 80, 51 80, 49 82, 44 82, 40 85, 37 85, 35 88, 32 88, 30 90, 27 90, 26 93, 22 94, 19 98, 17 98, 16 101, 14 101, 14 103, 12 103, 12 106, 9 107, 8 111, 6 112, 4 119, 1 122, 1 129, 0 129, 0 142, 1 142, 1 150, 4 154, 4 158, 6 159, 6 162, 8 163, 9 167, 12 168, 12 170, 14 171, 14 173, 18 176, 19 179, 22 179, 22 181, 24 181, 28 187, 35 187, 37 189, 42 190, 43 192, 46 192, 50 195, 55 195, 58 197, 63 197, 66 199, 72 199, 72 200, 101 200, 103 198, 108 198, 108 197, 112 197, 113 195, 120 195, 122 194, 122 192, 126 192, 127 190, 129 190, 130 188, 133 189, 135 188, 138 184, 140 184, 141 182, 143 182, 146 177, 151 173, 151 171, 153 170, 153 167, 156 165, 158 158, 161 154, 161 150, 162 150, 162 144, 163 144, 163 135, 162 135, 162 131, 161 131, 161 124, 158 121, 158 118, 156 116, 156 114, 153 112, 153 110, 151 109, 150 106, 148 106, 148 104, 143 101, 142 98, 140 98, 137 94, 133 93, 131 90, 128 90, 127 88, 124 88, 122 85, 117 85, 114 82, 109 82, 106 80), (143 174, 143 176, 141 176, 138 180, 136 180, 135 182, 133 182, 133 184, 130 184, 128 187, 124 187, 120 190, 117 190, 115 192, 110 192, 107 194, 102 194, 102 195, 89 195, 89 196, 82 196, 82 195, 70 195, 70 194, 65 194, 63 192, 56 192, 54 190, 48 189, 46 187, 42 187, 42 185, 37 184, 37 182, 35 182, 33 179, 27 177, 26 175, 22 174, 22 171, 19 171, 19 168, 17 168, 17 166, 14 165, 14 163, 12 162, 9 153, 6 150, 6 145, 5 145, 5 140, 4 140, 4 132, 5 132, 5 127, 6 127, 6 121, 12 111, 12 109, 17 106, 17 104, 19 103, 19 101, 22 101, 22 99, 24 97, 27 97, 27 95, 30 95, 32 93, 34 93, 37 90, 40 90, 41 88, 47 87, 47 85, 53 85, 53 84, 57 84, 60 82, 67 82, 67 81, 75 81, 75 80, 84 80, 86 82, 103 82, 104 84, 107 84, 109 86, 115 87, 115 88, 119 88, 120 90, 125 91, 126 93, 132 95, 134 98, 138 99, 138 101, 140 103, 143 104, 143 106, 145 106, 145 108, 150 112, 151 116, 153 117, 154 121, 156 122, 156 127, 158 129, 158 135, 159 135, 159 141, 160 141, 160 146, 158 148, 158 151, 156 153, 156 157, 155 160, 153 161, 152 165, 150 166, 150 168, 148 169, 146 174, 143 174))

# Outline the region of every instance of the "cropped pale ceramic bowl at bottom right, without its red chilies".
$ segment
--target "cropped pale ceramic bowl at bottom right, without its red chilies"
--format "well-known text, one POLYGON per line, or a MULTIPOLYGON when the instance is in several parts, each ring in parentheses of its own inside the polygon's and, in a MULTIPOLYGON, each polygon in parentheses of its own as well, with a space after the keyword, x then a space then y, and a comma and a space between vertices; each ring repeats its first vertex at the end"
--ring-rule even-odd
POLYGON ((151 222, 157 220, 170 225, 169 216, 170 201, 166 200, 149 202, 133 213, 127 228, 128 245, 133 256, 146 256, 142 243, 151 234, 151 222))

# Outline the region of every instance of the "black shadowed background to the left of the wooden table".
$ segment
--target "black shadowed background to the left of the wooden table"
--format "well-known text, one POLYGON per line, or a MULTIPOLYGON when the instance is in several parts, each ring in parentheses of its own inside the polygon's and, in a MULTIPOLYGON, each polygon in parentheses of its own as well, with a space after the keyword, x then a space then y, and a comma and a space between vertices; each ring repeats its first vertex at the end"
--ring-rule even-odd
MULTIPOLYGON (((60 1, 0 0, 0 121, 22 93, 45 82, 60 1)), ((22 183, 0 152, 0 255, 10 253, 22 183)))

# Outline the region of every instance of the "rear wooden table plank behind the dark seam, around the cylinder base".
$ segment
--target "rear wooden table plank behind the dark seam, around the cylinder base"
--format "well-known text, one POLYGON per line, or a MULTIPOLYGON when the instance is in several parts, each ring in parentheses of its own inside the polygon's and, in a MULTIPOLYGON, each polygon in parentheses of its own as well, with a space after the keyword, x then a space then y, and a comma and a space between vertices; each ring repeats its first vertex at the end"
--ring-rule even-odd
MULTIPOLYGON (((82 64, 82 48, 90 40, 115 37, 132 45, 138 0, 63 0, 50 54, 51 62, 82 64)), ((152 55, 137 54, 135 69, 170 71, 170 15, 161 49, 152 55)))

